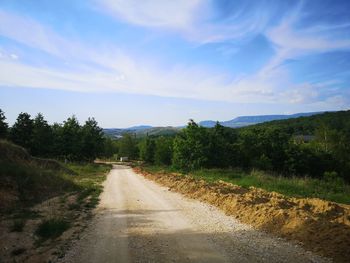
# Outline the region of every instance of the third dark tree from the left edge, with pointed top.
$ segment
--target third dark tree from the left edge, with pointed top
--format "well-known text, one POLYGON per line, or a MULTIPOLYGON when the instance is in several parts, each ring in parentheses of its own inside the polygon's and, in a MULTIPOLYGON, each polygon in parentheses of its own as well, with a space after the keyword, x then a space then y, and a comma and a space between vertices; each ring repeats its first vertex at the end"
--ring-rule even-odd
POLYGON ((38 113, 33 122, 31 145, 33 155, 49 156, 52 153, 52 129, 41 113, 38 113))

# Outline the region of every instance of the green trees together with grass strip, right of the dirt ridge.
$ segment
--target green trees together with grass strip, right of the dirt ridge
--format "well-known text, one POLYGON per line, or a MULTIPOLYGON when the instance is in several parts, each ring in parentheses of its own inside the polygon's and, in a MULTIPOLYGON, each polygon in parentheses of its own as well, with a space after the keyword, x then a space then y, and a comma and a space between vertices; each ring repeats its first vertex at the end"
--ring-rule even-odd
POLYGON ((350 111, 239 129, 191 120, 175 137, 148 136, 137 145, 149 170, 350 203, 350 111))

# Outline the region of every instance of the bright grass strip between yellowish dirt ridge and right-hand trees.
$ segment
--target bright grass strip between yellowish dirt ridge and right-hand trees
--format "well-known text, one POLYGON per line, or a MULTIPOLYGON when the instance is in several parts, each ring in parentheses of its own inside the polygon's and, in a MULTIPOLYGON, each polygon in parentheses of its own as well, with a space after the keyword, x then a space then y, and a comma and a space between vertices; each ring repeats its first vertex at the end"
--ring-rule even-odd
MULTIPOLYGON (((172 167, 144 166, 147 172, 179 172, 172 167)), ((258 187, 290 197, 316 197, 337 203, 350 204, 350 185, 342 180, 323 180, 308 177, 272 176, 266 172, 253 170, 245 172, 234 169, 202 169, 193 171, 190 176, 207 182, 222 180, 242 187, 258 187)))

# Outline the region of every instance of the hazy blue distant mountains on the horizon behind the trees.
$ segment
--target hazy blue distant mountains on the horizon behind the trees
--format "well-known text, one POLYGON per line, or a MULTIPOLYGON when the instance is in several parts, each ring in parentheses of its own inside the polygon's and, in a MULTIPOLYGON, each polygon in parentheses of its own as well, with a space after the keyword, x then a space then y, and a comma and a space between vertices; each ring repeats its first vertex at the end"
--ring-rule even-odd
MULTIPOLYGON (((307 112, 307 113, 296 113, 291 115, 240 116, 228 121, 219 121, 219 123, 225 127, 239 128, 239 127, 254 125, 258 123, 268 122, 268 121, 307 117, 307 116, 312 116, 312 115, 321 114, 321 113, 324 113, 324 112, 307 112)), ((199 125, 206 128, 212 128, 215 126, 215 124, 216 124, 216 121, 213 121, 213 120, 206 120, 206 121, 199 122, 199 125)), ((146 135, 157 135, 157 136, 174 135, 184 127, 185 126, 153 127, 149 125, 139 125, 139 126, 133 126, 133 127, 124 128, 124 129, 123 128, 103 129, 103 132, 107 136, 114 137, 114 138, 120 138, 123 136, 124 133, 132 133, 132 134, 135 134, 137 137, 143 137, 146 135)))

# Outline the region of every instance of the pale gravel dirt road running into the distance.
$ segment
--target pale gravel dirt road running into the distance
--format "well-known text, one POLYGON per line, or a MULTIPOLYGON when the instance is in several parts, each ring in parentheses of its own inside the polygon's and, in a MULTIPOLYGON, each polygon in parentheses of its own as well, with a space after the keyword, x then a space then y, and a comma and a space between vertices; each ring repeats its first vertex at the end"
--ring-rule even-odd
POLYGON ((97 215, 62 262, 326 262, 114 166, 97 215))

